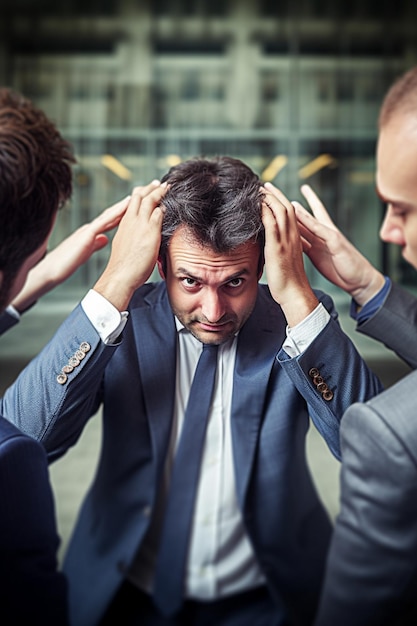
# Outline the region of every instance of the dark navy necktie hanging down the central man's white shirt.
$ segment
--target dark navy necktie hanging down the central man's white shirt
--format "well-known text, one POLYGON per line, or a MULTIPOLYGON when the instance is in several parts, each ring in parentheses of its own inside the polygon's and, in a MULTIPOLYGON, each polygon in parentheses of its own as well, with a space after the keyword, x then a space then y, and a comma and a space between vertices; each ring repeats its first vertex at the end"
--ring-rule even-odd
POLYGON ((197 363, 171 473, 153 588, 154 602, 164 615, 178 611, 184 595, 185 566, 216 375, 217 348, 204 345, 197 363))

